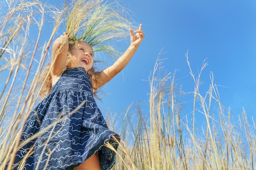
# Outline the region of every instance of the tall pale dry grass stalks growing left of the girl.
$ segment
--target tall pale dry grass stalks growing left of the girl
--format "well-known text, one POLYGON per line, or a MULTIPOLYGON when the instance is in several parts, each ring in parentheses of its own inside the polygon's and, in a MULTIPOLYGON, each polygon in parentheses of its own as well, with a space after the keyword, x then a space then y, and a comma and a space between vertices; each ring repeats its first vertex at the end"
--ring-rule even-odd
POLYGON ((62 14, 39 1, 9 0, 2 2, 1 7, 0 169, 3 169, 7 161, 13 161, 10 155, 19 146, 22 119, 26 119, 37 101, 40 72, 62 14), (52 18, 53 26, 49 39, 42 44, 45 17, 52 18), (35 41, 30 35, 34 29, 35 41))

